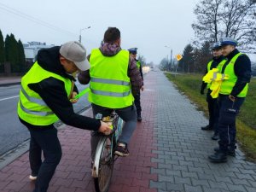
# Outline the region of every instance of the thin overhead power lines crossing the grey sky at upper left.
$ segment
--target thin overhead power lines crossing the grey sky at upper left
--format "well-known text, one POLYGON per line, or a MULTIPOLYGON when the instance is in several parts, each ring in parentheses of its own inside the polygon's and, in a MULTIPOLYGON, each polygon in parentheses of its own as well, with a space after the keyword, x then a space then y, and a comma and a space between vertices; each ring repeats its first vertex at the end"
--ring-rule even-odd
POLYGON ((69 31, 67 31, 65 29, 61 29, 60 27, 57 27, 57 26, 53 26, 53 25, 51 25, 51 24, 49 24, 49 23, 47 23, 43 20, 38 20, 37 18, 32 17, 31 15, 26 15, 26 14, 20 12, 17 9, 10 8, 9 6, 7 6, 3 3, 0 3, 0 9, 3 9, 3 10, 5 10, 5 11, 7 11, 7 12, 13 14, 13 15, 20 16, 23 19, 31 20, 32 22, 35 22, 38 25, 48 27, 49 29, 55 30, 57 32, 63 32, 63 33, 66 33, 66 34, 69 34, 69 35, 72 35, 72 36, 77 36, 77 34, 75 34, 73 32, 69 32, 69 31))

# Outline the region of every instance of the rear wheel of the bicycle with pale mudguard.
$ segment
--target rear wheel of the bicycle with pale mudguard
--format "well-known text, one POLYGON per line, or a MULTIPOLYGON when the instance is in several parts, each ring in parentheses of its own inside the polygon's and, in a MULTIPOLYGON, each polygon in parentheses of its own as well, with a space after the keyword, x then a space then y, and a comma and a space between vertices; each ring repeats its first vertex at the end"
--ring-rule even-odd
POLYGON ((107 192, 113 174, 111 137, 102 137, 96 149, 94 185, 96 192, 107 192))

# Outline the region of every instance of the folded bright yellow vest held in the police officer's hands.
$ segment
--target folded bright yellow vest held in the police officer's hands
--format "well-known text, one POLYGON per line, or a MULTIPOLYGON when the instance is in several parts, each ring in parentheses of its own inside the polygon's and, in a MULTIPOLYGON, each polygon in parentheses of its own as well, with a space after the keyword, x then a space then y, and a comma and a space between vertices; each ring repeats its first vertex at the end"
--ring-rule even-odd
POLYGON ((220 86, 224 79, 229 79, 225 74, 219 73, 218 68, 212 68, 204 77, 203 81, 210 84, 209 89, 212 90, 212 98, 217 98, 220 90, 220 86))

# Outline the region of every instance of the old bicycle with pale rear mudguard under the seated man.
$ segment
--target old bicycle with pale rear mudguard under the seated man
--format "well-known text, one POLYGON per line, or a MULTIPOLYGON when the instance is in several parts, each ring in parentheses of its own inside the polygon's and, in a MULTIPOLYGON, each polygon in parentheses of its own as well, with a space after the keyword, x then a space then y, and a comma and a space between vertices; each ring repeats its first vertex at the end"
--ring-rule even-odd
POLYGON ((114 154, 114 148, 117 146, 124 121, 114 111, 110 116, 104 118, 102 118, 102 114, 97 114, 96 119, 102 119, 113 127, 110 135, 100 134, 101 138, 97 144, 95 160, 92 165, 92 177, 96 192, 107 192, 113 175, 113 163, 118 158, 114 154))

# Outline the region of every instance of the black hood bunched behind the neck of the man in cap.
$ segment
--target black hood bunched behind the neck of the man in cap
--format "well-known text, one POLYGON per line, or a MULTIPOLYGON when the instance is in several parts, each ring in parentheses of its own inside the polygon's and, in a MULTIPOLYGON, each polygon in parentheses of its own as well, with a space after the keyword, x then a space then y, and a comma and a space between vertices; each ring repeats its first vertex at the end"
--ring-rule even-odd
POLYGON ((72 79, 73 76, 66 73, 60 61, 60 46, 38 51, 38 65, 44 70, 61 75, 64 78, 72 79))

